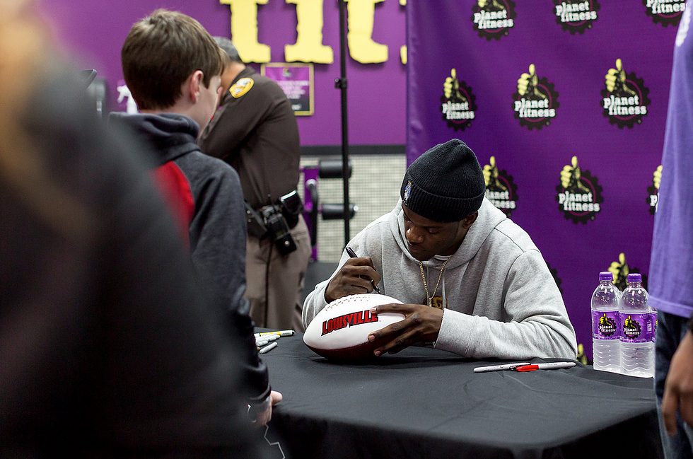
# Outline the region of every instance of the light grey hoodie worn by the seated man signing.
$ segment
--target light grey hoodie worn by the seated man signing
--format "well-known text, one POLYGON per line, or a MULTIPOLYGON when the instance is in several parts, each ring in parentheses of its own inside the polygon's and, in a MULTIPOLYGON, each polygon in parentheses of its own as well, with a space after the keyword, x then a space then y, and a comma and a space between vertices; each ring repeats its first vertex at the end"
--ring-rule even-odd
MULTIPOLYGON (((426 294, 419 262, 407 250, 403 215, 398 202, 349 246, 359 256, 373 259, 383 276, 379 284, 383 294, 420 304, 426 294)), ((348 258, 344 252, 337 271, 348 258)), ((429 289, 436 284, 441 265, 435 258, 424 262, 429 289)), ((304 324, 326 306, 330 279, 305 298, 304 324)), ((542 254, 530 236, 488 199, 450 257, 440 289, 446 308, 434 347, 474 359, 575 359, 575 331, 542 254)))

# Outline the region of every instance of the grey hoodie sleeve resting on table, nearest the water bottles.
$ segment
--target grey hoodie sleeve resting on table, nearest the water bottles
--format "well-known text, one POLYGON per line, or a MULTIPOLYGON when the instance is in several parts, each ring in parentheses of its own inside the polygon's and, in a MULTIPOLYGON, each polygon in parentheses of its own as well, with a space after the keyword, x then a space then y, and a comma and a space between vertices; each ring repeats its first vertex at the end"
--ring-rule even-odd
POLYGON ((446 309, 436 348, 474 359, 575 359, 575 331, 540 252, 528 250, 516 259, 503 291, 506 320, 446 309))

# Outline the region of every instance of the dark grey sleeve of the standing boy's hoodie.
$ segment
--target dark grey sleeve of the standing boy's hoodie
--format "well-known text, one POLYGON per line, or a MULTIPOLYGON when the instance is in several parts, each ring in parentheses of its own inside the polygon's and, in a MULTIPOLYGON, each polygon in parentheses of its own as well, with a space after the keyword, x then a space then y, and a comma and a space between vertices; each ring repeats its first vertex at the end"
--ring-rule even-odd
MULTIPOLYGON (((245 214, 238 174, 223 162, 204 157, 214 172, 192 184, 195 212, 190 223, 190 248, 195 268, 208 279, 206 288, 225 311, 226 327, 239 337, 243 373, 253 403, 269 395, 267 366, 255 348, 254 324, 245 294, 245 214)), ((200 166, 199 158, 192 161, 200 166)))

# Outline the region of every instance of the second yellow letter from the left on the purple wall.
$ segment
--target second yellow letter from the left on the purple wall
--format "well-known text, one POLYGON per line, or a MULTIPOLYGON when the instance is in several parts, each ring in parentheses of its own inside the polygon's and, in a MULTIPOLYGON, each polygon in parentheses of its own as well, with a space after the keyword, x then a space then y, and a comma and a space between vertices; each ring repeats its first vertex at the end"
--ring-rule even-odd
POLYGON ((285 0, 296 4, 296 43, 284 46, 286 62, 332 64, 332 47, 322 44, 323 0, 285 0))

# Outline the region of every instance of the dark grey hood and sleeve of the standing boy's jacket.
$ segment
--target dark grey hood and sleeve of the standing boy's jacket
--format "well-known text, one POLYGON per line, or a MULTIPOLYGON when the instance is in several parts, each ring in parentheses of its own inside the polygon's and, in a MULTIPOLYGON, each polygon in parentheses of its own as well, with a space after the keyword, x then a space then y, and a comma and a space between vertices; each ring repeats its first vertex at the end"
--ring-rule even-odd
POLYGON ((153 165, 174 161, 187 178, 194 200, 190 221, 190 250, 194 267, 216 302, 231 316, 229 332, 243 339, 252 393, 251 402, 269 395, 267 366, 260 360, 252 335, 253 323, 245 294, 245 208, 238 174, 223 161, 200 151, 199 128, 175 114, 112 113, 112 122, 132 128, 150 149, 153 165))

